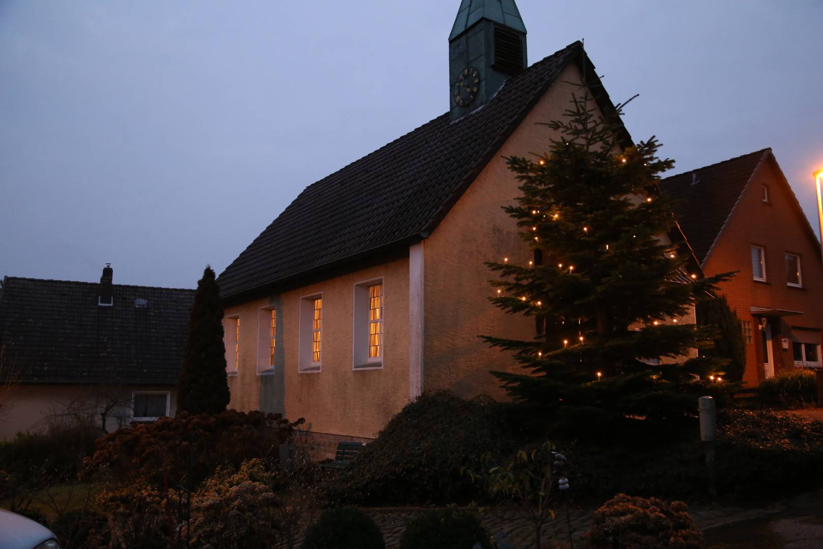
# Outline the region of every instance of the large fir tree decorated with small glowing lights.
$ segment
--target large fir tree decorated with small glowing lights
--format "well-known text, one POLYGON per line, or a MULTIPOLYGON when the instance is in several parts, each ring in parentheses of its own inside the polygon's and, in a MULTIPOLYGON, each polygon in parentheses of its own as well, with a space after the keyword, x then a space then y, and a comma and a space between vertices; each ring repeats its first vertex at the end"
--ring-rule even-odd
POLYGON ((547 153, 506 159, 522 195, 504 210, 534 261, 487 263, 500 275, 490 299, 537 319, 542 334, 484 339, 514 351, 527 372, 493 374, 543 417, 670 419, 723 392, 708 379, 723 361, 689 357, 712 334, 682 318, 726 276, 689 272, 689 254, 662 243, 676 221, 657 183, 674 162, 658 158, 654 137, 623 150, 620 109, 604 119, 588 91, 573 95, 563 119, 545 124, 558 136, 547 153))

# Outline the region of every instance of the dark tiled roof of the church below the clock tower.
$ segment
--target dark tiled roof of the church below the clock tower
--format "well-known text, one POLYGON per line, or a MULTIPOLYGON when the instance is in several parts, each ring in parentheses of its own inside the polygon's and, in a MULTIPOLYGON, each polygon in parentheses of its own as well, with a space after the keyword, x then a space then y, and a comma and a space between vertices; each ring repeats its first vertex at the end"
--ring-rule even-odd
MULTIPOLYGON (((310 185, 221 273, 221 296, 236 299, 424 239, 572 62, 585 63, 600 108, 614 109, 583 44, 570 44, 462 119, 443 114, 310 185)), ((629 133, 621 140, 630 145, 629 133)))

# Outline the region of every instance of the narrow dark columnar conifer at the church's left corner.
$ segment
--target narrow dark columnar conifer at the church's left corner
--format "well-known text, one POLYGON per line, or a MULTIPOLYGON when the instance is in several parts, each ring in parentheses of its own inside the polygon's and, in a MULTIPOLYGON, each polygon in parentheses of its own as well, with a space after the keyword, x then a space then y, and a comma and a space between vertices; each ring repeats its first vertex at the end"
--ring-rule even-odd
POLYGON ((211 267, 203 271, 188 320, 183 370, 178 380, 178 412, 219 414, 229 404, 223 308, 211 267))

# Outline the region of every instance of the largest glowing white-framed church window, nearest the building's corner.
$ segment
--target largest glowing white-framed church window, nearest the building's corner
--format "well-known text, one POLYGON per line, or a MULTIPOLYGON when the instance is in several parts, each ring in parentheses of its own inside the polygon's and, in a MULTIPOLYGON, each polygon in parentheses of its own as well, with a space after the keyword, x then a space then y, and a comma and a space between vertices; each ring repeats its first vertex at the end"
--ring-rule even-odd
POLYGON ((384 283, 382 278, 355 285, 353 319, 353 368, 383 368, 384 354, 384 283))

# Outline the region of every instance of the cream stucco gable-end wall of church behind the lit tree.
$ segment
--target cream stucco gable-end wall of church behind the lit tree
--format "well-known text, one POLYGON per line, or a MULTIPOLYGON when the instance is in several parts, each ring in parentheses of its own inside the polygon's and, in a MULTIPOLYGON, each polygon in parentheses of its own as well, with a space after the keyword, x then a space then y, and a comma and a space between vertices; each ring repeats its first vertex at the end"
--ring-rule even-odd
POLYGON ((486 169, 425 240, 425 392, 450 390, 463 398, 488 394, 505 398, 491 370, 523 372, 507 352, 493 349, 479 335, 528 340, 535 321, 504 314, 489 300, 493 273, 486 261, 526 264, 532 252, 518 235, 516 221, 501 207, 514 204, 518 181, 504 156, 548 151, 556 134, 537 125, 560 119, 582 82, 573 64, 560 74, 509 137, 486 169))

